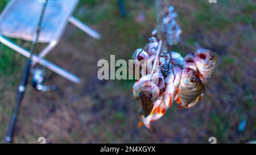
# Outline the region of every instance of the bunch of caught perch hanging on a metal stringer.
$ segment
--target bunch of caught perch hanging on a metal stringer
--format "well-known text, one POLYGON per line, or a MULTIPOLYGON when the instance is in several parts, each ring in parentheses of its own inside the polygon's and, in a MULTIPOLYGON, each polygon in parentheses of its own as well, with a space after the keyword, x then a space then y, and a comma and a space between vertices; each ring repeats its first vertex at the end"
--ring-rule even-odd
POLYGON ((180 108, 191 108, 199 103, 204 84, 218 61, 217 53, 208 49, 197 49, 184 58, 172 51, 172 45, 180 43, 182 32, 176 22, 177 14, 174 6, 166 7, 163 0, 155 2, 157 26, 152 31, 153 36, 133 56, 137 63, 147 61, 146 71, 143 68, 142 77, 134 83, 133 95, 140 106, 138 127, 144 124, 150 131, 150 123, 162 118, 172 102, 176 101, 180 108))

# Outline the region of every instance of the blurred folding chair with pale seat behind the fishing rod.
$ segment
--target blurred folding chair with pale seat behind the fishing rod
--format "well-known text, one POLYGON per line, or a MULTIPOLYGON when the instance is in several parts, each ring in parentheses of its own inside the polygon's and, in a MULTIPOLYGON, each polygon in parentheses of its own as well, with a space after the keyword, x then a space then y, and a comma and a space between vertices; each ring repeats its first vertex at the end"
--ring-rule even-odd
MULTIPOLYGON (((27 41, 32 41, 40 10, 42 9, 42 0, 12 0, 0 15, 0 41, 16 52, 29 57, 30 53, 13 43, 7 37, 18 38, 27 41)), ((82 31, 88 33, 94 39, 100 39, 101 35, 80 22, 72 16, 79 0, 50 0, 44 15, 42 30, 38 39, 38 43, 47 43, 48 45, 39 53, 32 56, 32 65, 39 63, 53 72, 69 79, 72 82, 79 83, 79 77, 67 72, 59 66, 45 60, 46 56, 59 42, 67 23, 70 22, 82 31)))

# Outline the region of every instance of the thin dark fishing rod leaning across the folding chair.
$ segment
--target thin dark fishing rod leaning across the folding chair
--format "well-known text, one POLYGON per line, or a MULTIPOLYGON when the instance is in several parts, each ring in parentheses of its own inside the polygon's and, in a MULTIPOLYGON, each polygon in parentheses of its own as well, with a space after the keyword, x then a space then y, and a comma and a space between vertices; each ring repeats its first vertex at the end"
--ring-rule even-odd
POLYGON ((18 87, 18 94, 16 96, 14 113, 13 113, 13 116, 11 117, 11 122, 9 125, 7 136, 5 137, 6 143, 11 143, 13 141, 14 129, 15 129, 16 120, 18 118, 19 107, 20 107, 20 103, 22 102, 25 90, 26 90, 28 77, 30 75, 32 56, 33 56, 33 52, 36 50, 36 44, 38 43, 38 38, 39 38, 41 28, 42 28, 41 26, 42 26, 42 22, 43 22, 43 17, 46 12, 47 2, 48 2, 48 0, 44 1, 44 5, 43 5, 43 9, 40 14, 38 26, 36 27, 36 33, 32 40, 32 44, 31 44, 31 48, 30 48, 30 57, 28 57, 27 64, 23 70, 23 75, 22 75, 20 85, 18 87))

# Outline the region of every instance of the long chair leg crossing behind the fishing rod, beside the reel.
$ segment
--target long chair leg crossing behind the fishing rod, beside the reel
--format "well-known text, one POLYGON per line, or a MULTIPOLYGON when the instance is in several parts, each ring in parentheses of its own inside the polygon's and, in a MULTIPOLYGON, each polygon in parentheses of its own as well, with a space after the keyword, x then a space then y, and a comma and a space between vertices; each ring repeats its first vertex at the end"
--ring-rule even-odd
MULTIPOLYGON (((28 52, 26 49, 19 47, 19 45, 16 45, 15 43, 13 43, 12 41, 10 41, 9 39, 7 39, 6 37, 0 35, 0 42, 2 42, 3 44, 7 45, 7 47, 10 47, 11 49, 13 49, 14 51, 29 57, 30 56, 30 52, 28 52)), ((52 64, 52 62, 49 62, 43 58, 40 58, 36 55, 32 56, 32 61, 38 62, 40 65, 45 66, 46 68, 48 68, 49 70, 52 70, 53 72, 59 74, 60 76, 67 78, 69 81, 75 82, 75 83, 80 83, 81 79, 77 76, 75 76, 72 73, 67 72, 66 70, 60 68, 59 66, 52 64)))

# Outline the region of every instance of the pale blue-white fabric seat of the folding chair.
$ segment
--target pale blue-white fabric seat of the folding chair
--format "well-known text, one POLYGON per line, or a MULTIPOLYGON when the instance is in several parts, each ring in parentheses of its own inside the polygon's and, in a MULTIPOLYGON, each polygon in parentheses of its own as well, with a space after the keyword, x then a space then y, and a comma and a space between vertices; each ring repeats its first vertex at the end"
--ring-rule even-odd
MULTIPOLYGON (((38 42, 59 40, 78 0, 49 0, 38 42)), ((13 0, 0 15, 0 33, 32 41, 39 21, 42 3, 37 0, 13 0)))

